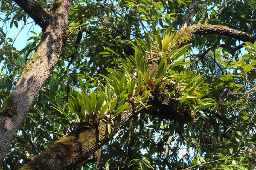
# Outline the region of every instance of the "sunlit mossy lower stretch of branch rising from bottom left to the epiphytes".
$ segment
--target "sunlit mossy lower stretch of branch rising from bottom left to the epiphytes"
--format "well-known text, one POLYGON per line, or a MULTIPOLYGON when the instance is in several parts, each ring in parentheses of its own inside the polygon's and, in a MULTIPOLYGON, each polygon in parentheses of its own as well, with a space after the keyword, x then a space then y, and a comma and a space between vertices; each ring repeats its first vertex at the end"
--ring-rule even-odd
POLYGON ((70 170, 108 142, 133 115, 133 109, 119 115, 114 120, 115 125, 111 125, 111 134, 108 134, 104 122, 100 122, 96 128, 76 130, 58 140, 20 170, 70 170))

